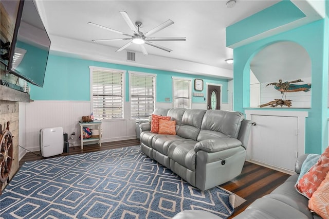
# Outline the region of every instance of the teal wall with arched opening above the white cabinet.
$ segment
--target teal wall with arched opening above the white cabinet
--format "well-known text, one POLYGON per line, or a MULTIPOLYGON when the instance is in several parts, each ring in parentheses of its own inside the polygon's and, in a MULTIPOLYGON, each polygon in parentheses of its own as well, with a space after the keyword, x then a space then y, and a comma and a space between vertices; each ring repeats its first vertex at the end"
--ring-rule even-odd
MULTIPOLYGON (((244 112, 244 109, 248 108, 250 103, 250 61, 258 51, 276 42, 292 41, 304 47, 308 52, 312 61, 311 108, 270 108, 270 110, 276 111, 308 112, 305 130, 305 153, 321 153, 328 145, 328 28, 328 19, 326 17, 323 20, 235 48, 233 53, 234 110, 244 112)), ((268 110, 268 108, 259 110, 268 110)))

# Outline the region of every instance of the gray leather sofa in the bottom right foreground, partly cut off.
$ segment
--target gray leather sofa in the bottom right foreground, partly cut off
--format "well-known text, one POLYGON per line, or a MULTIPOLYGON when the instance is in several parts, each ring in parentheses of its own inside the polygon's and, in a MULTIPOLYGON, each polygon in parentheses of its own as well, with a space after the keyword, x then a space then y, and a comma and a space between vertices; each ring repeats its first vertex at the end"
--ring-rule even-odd
MULTIPOLYGON (((296 174, 290 176, 282 185, 273 190, 270 194, 255 200, 242 213, 235 216, 235 219, 303 219, 321 217, 308 209, 308 199, 299 194, 295 189, 295 184, 299 176, 302 163, 307 154, 300 156, 295 163, 296 174)), ((210 214, 205 211, 182 211, 173 218, 200 218, 200 215, 210 214)), ((209 217, 210 218, 210 217, 209 217)), ((211 218, 220 218, 212 214, 211 218)))

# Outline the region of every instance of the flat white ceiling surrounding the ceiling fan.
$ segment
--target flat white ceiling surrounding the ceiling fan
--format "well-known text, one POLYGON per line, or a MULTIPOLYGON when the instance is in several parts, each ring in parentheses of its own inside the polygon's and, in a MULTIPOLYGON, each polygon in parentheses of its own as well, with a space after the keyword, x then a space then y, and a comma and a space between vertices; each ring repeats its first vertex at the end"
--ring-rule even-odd
MULTIPOLYGON (((226 1, 37 1, 37 4, 53 48, 64 44, 60 39, 91 43, 94 39, 122 38, 121 34, 88 25, 88 22, 132 33, 119 13, 126 11, 133 22, 143 23, 142 32, 170 19, 175 24, 152 36, 186 37, 186 41, 157 42, 173 49, 170 53, 145 45, 150 55, 232 69, 233 65, 224 61, 233 58, 232 49, 226 47, 225 28, 277 2, 238 0, 233 8, 227 8, 226 1)), ((97 44, 110 53, 125 43, 97 44)), ((136 45, 127 50, 140 52, 136 45)))

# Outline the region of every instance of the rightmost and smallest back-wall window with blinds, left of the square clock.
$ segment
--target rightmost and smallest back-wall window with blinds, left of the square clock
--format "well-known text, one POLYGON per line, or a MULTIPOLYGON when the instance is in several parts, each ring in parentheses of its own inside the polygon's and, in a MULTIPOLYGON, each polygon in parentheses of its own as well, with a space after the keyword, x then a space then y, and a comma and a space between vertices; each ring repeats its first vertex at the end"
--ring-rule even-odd
POLYGON ((191 108, 191 80, 173 78, 173 107, 191 108))

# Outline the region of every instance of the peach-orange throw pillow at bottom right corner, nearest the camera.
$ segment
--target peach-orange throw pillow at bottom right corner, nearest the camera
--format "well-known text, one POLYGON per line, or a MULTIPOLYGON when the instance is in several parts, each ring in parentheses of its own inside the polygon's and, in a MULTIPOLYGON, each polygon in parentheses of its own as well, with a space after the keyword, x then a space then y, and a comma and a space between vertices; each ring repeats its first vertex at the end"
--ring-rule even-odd
POLYGON ((329 218, 329 173, 308 200, 308 208, 322 218, 329 218))

